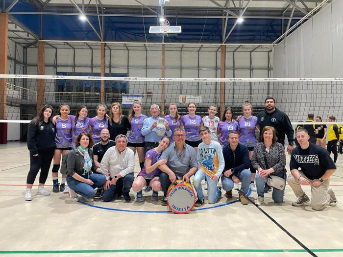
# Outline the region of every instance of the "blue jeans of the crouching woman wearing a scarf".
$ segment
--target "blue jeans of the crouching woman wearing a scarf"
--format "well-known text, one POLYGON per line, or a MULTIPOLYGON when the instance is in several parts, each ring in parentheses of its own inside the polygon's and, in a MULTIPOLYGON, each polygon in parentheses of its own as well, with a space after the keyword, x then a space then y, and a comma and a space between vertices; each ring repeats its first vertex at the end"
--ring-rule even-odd
MULTIPOLYGON (((84 175, 82 177, 87 179, 87 175, 84 175)), ((77 179, 74 179, 72 176, 68 175, 67 183, 68 186, 72 188, 77 194, 82 195, 86 198, 92 198, 95 195, 94 189, 97 187, 101 187, 105 183, 106 177, 103 174, 92 173, 89 174, 89 179, 94 182, 92 186, 78 181, 77 179)))

